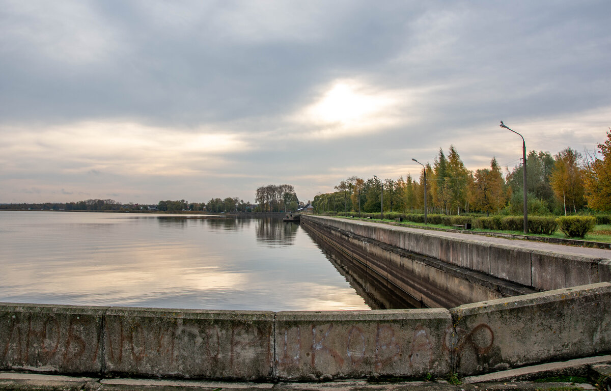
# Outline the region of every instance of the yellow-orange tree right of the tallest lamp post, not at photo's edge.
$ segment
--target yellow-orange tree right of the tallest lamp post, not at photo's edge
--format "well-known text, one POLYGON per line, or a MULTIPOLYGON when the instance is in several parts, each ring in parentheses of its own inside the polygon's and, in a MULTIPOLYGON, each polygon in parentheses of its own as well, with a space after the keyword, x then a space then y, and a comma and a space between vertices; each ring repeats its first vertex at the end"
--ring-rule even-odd
POLYGON ((566 216, 566 204, 573 211, 581 209, 585 205, 584 179, 580 163, 582 156, 579 152, 566 148, 555 155, 555 165, 550 175, 550 185, 554 195, 562 203, 566 216))

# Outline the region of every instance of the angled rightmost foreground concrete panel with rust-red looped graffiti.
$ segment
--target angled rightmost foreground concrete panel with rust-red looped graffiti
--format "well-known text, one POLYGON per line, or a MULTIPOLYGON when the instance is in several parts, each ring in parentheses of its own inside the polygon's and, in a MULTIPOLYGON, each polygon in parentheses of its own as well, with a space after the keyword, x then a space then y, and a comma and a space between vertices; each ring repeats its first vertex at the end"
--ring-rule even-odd
POLYGON ((472 375, 611 351, 611 284, 461 305, 455 368, 472 375))

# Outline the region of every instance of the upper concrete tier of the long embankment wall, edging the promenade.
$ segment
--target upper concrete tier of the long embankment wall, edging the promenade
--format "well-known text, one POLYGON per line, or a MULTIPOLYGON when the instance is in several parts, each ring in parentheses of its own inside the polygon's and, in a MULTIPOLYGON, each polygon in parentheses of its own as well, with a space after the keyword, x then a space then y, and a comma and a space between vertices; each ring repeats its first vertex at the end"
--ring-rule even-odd
POLYGON ((524 249, 519 244, 492 246, 473 238, 448 238, 433 231, 409 232, 393 226, 362 224, 331 217, 308 215, 302 216, 302 221, 316 230, 331 227, 346 238, 349 235, 367 238, 536 291, 611 281, 611 260, 524 249))

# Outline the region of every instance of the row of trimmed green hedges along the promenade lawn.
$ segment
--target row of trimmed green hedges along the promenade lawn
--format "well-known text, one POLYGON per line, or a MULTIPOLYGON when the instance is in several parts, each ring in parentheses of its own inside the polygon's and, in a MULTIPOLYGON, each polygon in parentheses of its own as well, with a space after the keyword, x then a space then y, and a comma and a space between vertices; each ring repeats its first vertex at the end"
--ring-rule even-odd
MULTIPOLYGON (((340 213, 338 213, 340 214, 340 213)), ((370 219, 379 219, 379 213, 361 213, 361 217, 370 219)), ((356 214, 350 214, 356 216, 356 214)), ((424 224, 424 214, 420 213, 384 213, 384 219, 400 219, 401 221, 410 221, 424 224)), ((522 216, 489 216, 478 217, 468 215, 447 216, 445 214, 428 214, 426 220, 430 224, 447 225, 465 225, 470 223, 474 228, 494 230, 494 231, 519 231, 524 229, 524 217, 522 216)), ((544 217, 544 216, 529 216, 529 233, 535 235, 554 235, 560 228, 569 238, 584 238, 596 224, 611 224, 611 215, 593 216, 562 216, 562 217, 544 217)))

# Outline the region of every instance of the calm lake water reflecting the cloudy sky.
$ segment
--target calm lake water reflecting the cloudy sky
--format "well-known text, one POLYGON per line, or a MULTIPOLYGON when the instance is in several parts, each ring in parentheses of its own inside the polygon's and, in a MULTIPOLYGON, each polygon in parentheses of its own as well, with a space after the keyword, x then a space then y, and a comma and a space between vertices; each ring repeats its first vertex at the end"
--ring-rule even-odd
POLYGON ((368 309, 299 225, 0 211, 0 301, 222 310, 368 309))

